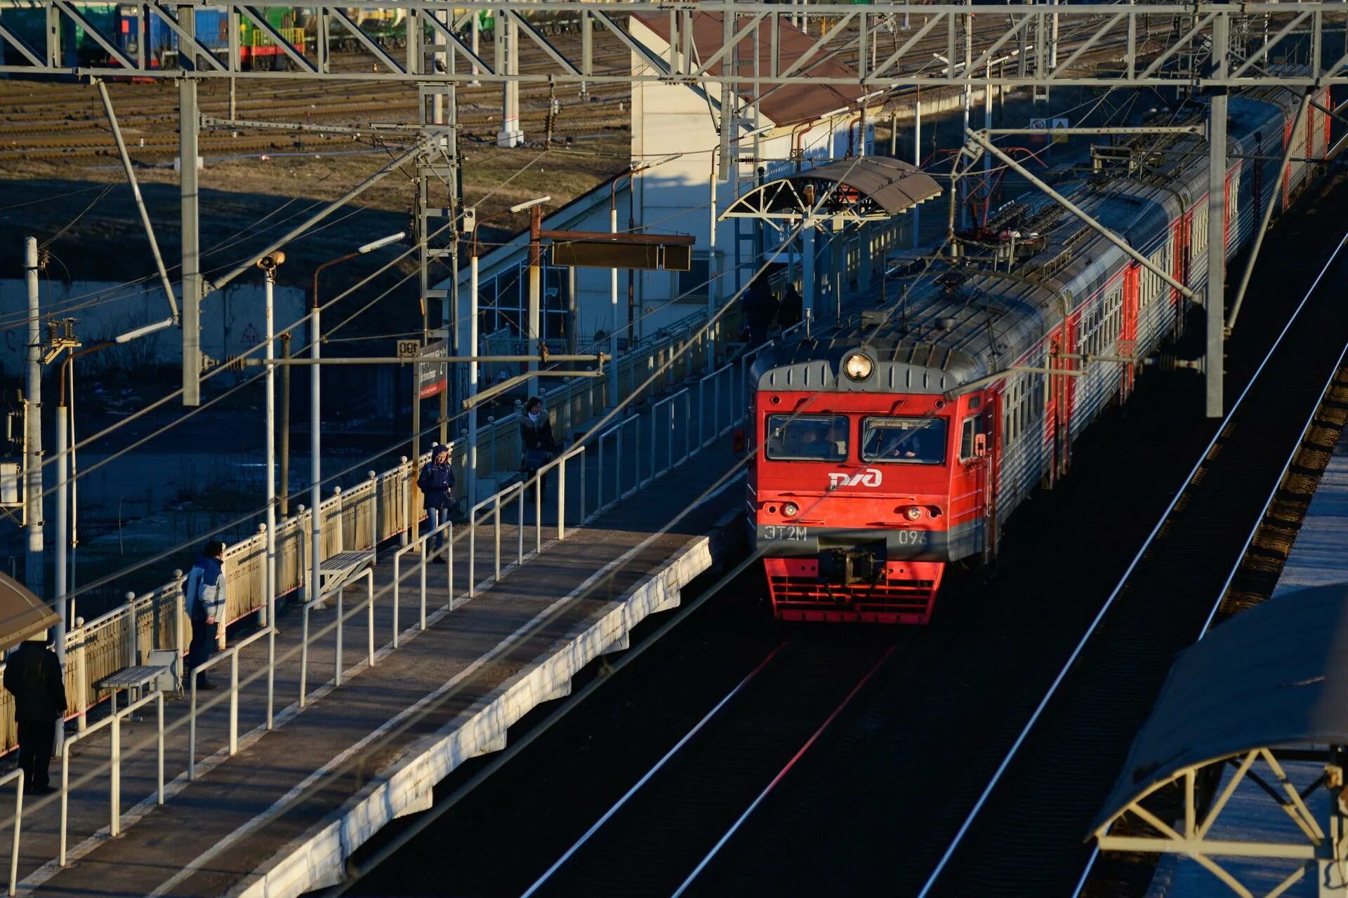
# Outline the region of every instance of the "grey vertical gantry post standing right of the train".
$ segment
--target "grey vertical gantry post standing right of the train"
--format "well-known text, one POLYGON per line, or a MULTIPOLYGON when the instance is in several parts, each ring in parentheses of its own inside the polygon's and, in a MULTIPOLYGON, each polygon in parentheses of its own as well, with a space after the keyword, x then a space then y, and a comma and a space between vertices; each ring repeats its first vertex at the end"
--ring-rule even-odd
MULTIPOLYGON (((1212 27, 1213 77, 1227 77, 1229 19, 1216 13, 1212 27)), ((1205 412, 1221 417, 1224 295, 1227 277, 1227 93, 1215 89, 1208 109, 1208 302, 1204 350, 1205 412)))

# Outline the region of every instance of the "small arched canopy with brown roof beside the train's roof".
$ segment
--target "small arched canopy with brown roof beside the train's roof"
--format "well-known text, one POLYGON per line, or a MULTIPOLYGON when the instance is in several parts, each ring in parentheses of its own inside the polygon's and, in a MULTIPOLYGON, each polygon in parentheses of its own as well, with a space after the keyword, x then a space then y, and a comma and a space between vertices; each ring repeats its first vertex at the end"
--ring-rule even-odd
POLYGON ((941 195, 926 172, 888 156, 844 159, 749 190, 721 218, 797 222, 805 217, 841 223, 884 221, 941 195), (816 209, 820 199, 825 202, 816 209))

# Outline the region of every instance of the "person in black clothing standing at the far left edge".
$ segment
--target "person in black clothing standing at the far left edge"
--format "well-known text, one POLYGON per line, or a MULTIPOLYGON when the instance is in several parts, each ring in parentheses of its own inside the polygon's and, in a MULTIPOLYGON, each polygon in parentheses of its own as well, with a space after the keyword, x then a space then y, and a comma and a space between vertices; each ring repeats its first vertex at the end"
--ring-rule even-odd
POLYGON ((4 666, 4 688, 13 695, 24 790, 44 796, 53 792, 47 766, 51 763, 57 720, 66 714, 61 662, 47 650, 46 630, 28 637, 27 642, 9 653, 4 666))

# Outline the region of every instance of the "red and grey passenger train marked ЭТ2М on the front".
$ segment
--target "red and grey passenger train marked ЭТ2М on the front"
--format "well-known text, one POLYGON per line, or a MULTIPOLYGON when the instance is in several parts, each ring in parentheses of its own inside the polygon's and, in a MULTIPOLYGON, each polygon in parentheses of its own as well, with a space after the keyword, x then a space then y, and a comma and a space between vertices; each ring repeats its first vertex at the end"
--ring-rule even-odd
MULTIPOLYGON (((1293 133, 1295 102, 1229 101, 1228 257, 1306 178, 1302 162, 1279 171, 1287 141, 1294 156, 1326 151, 1328 117, 1312 106, 1293 133)), ((1192 104, 1177 121, 1205 114, 1192 104)), ((1060 172, 1058 188, 1201 295, 1204 139, 1092 155, 1095 170, 1060 172)), ((752 368, 748 518, 778 618, 926 623, 946 568, 996 556, 1007 520, 1068 473, 1081 432, 1182 327, 1180 291, 1041 194, 967 237, 962 260, 909 281, 902 311, 856 298, 841 324, 752 368)))

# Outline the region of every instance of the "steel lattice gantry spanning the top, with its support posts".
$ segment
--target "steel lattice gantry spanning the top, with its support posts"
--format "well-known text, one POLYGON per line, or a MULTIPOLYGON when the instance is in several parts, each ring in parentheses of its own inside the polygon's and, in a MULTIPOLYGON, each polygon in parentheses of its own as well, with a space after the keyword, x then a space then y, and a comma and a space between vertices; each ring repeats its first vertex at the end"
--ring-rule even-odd
MULTIPOLYGON (((795 5, 736 3, 733 0, 698 0, 697 3, 651 3, 615 0, 531 0, 527 5, 510 0, 462 0, 445 4, 430 0, 367 0, 364 7, 404 13, 406 51, 392 53, 338 7, 303 7, 314 16, 315 34, 297 46, 286 39, 267 19, 267 9, 295 8, 290 0, 225 0, 197 3, 140 3, 142 22, 158 18, 179 42, 178 67, 163 67, 146 57, 146 42, 124 50, 115 35, 98 28, 67 0, 32 0, 30 7, 44 8, 47 28, 44 43, 34 46, 7 27, 0 11, 0 47, 4 50, 0 73, 11 77, 40 75, 66 78, 136 77, 179 82, 181 158, 182 158, 182 316, 183 331, 183 401, 200 403, 200 302, 206 291, 224 281, 206 284, 198 264, 197 246, 197 133, 201 127, 197 109, 197 83, 209 78, 268 79, 342 79, 380 81, 417 85, 422 113, 419 121, 425 141, 418 174, 426 182, 418 194, 418 241, 422 264, 437 252, 426 245, 429 221, 438 215, 458 217, 457 153, 454 152, 454 88, 464 82, 495 82, 503 86, 506 104, 522 82, 554 85, 638 83, 655 81, 687 83, 702 89, 709 98, 752 102, 764 92, 786 85, 833 83, 848 86, 856 94, 852 105, 838 110, 865 109, 883 102, 892 92, 921 86, 998 86, 1031 88, 1035 97, 1054 85, 1085 88, 1161 88, 1171 86, 1212 97, 1209 116, 1211 203, 1219 206, 1209 215, 1216 240, 1209 240, 1209 271, 1224 272, 1220 240, 1227 167, 1225 108, 1227 93, 1254 86, 1281 86, 1305 92, 1317 86, 1348 83, 1348 4, 1339 0, 1305 3, 1147 3, 1147 4, 1029 4, 972 7, 930 4, 914 7, 905 3, 869 5, 795 5), (231 35, 243 22, 256 27, 275 43, 288 61, 284 71, 252 71, 243 66, 237 39, 224 50, 201 43, 193 28, 198 8, 222 9, 231 23, 231 35), (477 15, 495 16, 489 44, 484 51, 477 15), (580 27, 580 50, 566 50, 534 27, 530 16, 562 13, 580 27), (456 18, 457 16, 457 18, 456 18), (624 27, 630 16, 665 20, 669 40, 651 47, 634 38, 624 27), (716 27, 724 39, 706 54, 694 40, 701 16, 718 16, 716 27), (980 19, 979 30, 972 20, 980 19), (989 26, 988 22, 992 22, 989 26), (900 24, 902 23, 902 24, 900 24), (62 61, 63 35, 82 28, 89 39, 106 51, 106 62, 90 66, 67 66, 62 61), (470 28, 470 34, 469 34, 470 28), (776 36, 785 28, 803 30, 813 43, 799 54, 779 53, 776 36), (337 42, 355 39, 365 54, 361 65, 334 63, 337 42), (603 62, 594 54, 596 38, 616 40, 630 53, 630 61, 603 62), (944 54, 933 54, 933 42, 944 54), (748 53, 744 53, 748 47, 748 53), (1015 53, 1011 53, 1011 51, 1015 53), (1295 54, 1297 65, 1282 65, 1295 54), (745 61, 743 57, 748 55, 745 61), (933 55, 944 67, 933 66, 933 55), (520 65, 530 58, 527 70, 520 65), (962 58, 962 65, 950 61, 962 58), (813 71, 830 59, 842 62, 848 75, 836 71, 813 71), (1103 59, 1103 62, 1101 62, 1103 59), (1008 67, 1010 61, 1010 67, 1008 67), (1085 63, 1089 61, 1089 69, 1085 63), (373 62, 373 65, 371 65, 373 62), (999 63, 999 67, 993 67, 999 63), (717 90, 710 90, 710 86, 717 90), (450 206, 435 209, 426 187, 433 179, 449 187, 450 206), (1217 222, 1212 225, 1211 222, 1217 222)), ((705 22, 702 23, 705 27, 705 22)), ((725 116, 731 127, 739 120, 725 116)), ((412 124, 412 123, 408 123, 412 124)), ((729 127, 723 127, 723 143, 729 127)), ((449 228, 457 253, 460 228, 449 228)), ((270 250, 268 250, 270 252, 270 250)), ((457 261, 457 254, 456 260, 457 261)), ((241 269, 240 269, 241 271, 241 269)), ((225 280, 237 272, 226 276, 225 280)), ((457 283, 457 279, 456 279, 457 283)), ((1223 277, 1209 277, 1205 304, 1208 315, 1206 365, 1209 415, 1221 413, 1221 346, 1224 338, 1223 277)), ((427 279, 422 277, 422 303, 434 299, 427 279)), ((442 323, 453 324, 449 298, 442 299, 442 323)))

